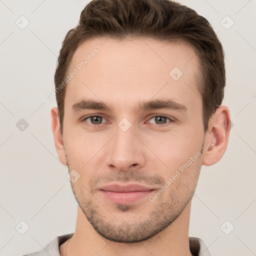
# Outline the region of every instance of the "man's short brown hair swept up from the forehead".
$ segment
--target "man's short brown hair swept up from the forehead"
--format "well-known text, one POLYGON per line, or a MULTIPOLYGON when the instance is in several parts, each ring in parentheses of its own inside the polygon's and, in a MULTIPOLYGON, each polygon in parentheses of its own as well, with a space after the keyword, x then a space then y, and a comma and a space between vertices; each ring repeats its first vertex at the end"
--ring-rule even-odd
POLYGON ((213 28, 193 9, 171 0, 92 0, 81 11, 76 27, 70 29, 59 51, 54 75, 60 131, 63 133, 65 86, 74 51, 87 39, 147 37, 167 42, 189 43, 199 58, 204 132, 224 96, 224 52, 213 28))

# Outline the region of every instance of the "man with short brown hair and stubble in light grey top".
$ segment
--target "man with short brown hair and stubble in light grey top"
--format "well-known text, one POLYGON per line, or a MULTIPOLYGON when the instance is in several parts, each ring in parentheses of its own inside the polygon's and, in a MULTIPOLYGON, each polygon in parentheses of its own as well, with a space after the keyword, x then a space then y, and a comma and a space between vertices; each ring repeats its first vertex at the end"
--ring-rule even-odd
POLYGON ((74 233, 35 255, 210 255, 188 237, 201 165, 223 156, 222 46, 169 0, 93 0, 65 36, 51 109, 78 202, 74 233))

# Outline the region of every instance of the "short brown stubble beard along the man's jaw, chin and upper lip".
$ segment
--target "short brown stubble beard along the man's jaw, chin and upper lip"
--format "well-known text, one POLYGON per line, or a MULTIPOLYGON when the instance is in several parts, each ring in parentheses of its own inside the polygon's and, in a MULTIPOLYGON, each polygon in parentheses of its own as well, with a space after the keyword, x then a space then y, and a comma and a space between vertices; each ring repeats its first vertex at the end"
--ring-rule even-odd
MULTIPOLYGON (((182 213, 194 194, 201 162, 201 157, 199 157, 193 170, 195 173, 190 178, 190 181, 182 184, 181 180, 175 180, 176 183, 171 184, 154 202, 150 202, 149 200, 146 202, 144 208, 149 208, 147 216, 144 214, 141 216, 137 213, 137 216, 129 221, 117 219, 114 214, 107 209, 107 205, 103 206, 102 203, 98 201, 96 196, 91 193, 91 190, 89 191, 90 197, 85 198, 84 195, 88 194, 88 189, 86 189, 85 186, 81 185, 77 187, 72 182, 70 183, 79 207, 99 235, 115 242, 140 242, 149 239, 165 229, 182 213), (181 189, 180 186, 184 189, 181 189)), ((69 168, 70 164, 68 164, 68 162, 67 166, 69 170, 72 169, 69 168)), ((118 177, 116 175, 114 176, 116 177, 115 180, 121 181, 145 181, 146 178, 140 180, 140 175, 140 172, 132 170, 131 172, 118 173, 118 177)), ((155 183, 163 182, 162 177, 157 177, 158 180, 155 181, 155 183)), ((147 180, 151 179, 147 178, 147 180)), ((127 214, 127 212, 134 209, 134 206, 132 204, 116 204, 115 209, 118 213, 125 212, 127 214)))

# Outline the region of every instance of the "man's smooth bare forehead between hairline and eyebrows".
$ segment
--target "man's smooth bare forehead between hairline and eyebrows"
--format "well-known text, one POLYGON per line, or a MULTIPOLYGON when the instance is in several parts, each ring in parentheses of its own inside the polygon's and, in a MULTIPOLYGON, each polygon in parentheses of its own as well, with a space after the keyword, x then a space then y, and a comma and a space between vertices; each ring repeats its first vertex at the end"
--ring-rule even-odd
MULTIPOLYGON (((93 38, 74 52, 66 96, 70 104, 84 97, 106 102, 169 95, 181 103, 199 101, 198 58, 186 43, 149 38, 93 38)), ((106 102, 107 103, 107 102, 106 102)), ((127 104, 126 104, 127 105, 127 104)))

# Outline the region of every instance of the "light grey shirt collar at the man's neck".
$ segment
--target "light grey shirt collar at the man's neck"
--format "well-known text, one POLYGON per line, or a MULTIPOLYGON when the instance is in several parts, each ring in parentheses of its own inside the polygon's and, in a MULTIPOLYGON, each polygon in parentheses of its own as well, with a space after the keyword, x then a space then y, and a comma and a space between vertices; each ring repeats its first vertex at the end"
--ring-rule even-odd
MULTIPOLYGON (((68 240, 73 233, 56 236, 42 250, 23 256, 59 256, 59 245, 68 240)), ((200 238, 189 236, 189 249, 193 256, 210 256, 210 253, 200 238)))

